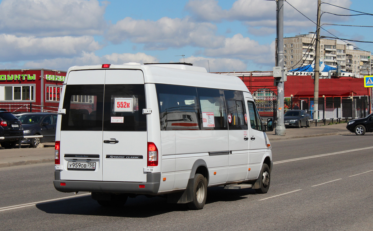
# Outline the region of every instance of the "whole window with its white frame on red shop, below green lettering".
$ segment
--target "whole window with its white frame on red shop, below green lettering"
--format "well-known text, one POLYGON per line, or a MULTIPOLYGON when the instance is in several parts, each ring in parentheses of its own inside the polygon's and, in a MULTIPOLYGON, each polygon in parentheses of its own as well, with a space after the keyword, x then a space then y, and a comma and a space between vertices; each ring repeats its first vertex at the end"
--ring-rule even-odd
POLYGON ((0 86, 0 101, 35 102, 35 84, 4 84, 0 86), (11 93, 11 94, 10 94, 11 93))

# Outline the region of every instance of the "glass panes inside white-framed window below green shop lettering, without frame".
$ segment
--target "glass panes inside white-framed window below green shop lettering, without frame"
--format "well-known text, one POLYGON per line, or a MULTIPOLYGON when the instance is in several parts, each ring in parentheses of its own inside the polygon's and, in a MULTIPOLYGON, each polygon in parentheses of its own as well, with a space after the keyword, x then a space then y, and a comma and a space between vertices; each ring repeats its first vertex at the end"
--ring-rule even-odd
POLYGON ((4 100, 34 100, 35 86, 4 86, 4 100))

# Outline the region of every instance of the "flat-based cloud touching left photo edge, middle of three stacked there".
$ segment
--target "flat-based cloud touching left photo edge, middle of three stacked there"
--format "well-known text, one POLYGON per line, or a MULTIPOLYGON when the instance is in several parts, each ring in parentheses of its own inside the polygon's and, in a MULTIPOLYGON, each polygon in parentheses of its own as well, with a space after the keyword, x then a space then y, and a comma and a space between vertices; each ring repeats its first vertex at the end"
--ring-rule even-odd
POLYGON ((71 57, 101 48, 91 36, 37 38, 0 34, 0 44, 0 62, 71 57))

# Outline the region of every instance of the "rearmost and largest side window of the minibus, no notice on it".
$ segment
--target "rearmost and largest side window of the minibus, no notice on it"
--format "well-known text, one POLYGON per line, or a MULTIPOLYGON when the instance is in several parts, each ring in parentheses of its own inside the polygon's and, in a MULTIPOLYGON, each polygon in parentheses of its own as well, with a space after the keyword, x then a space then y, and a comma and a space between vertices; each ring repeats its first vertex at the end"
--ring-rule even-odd
POLYGON ((156 84, 161 130, 200 130, 195 87, 156 84))

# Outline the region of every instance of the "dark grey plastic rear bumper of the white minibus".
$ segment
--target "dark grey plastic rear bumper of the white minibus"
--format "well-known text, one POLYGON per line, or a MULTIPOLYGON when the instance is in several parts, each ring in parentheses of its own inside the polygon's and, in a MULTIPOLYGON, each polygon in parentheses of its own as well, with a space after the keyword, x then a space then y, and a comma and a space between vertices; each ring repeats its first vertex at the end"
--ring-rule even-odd
POLYGON ((54 188, 60 192, 96 192, 96 193, 133 193, 157 195, 160 185, 160 173, 148 173, 147 182, 117 182, 117 181, 71 181, 60 180, 60 171, 54 172, 54 188), (60 183, 66 185, 61 186, 60 183), (139 188, 139 185, 145 185, 139 188))

